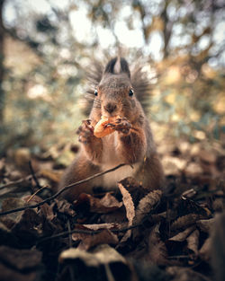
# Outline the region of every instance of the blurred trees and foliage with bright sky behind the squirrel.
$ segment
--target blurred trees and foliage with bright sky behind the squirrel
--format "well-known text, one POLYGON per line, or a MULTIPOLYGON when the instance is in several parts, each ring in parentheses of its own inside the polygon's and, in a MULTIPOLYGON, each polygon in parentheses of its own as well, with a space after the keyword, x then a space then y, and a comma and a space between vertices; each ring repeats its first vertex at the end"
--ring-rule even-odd
POLYGON ((0 152, 76 143, 93 59, 141 57, 157 141, 225 134, 223 0, 0 0, 0 152))

